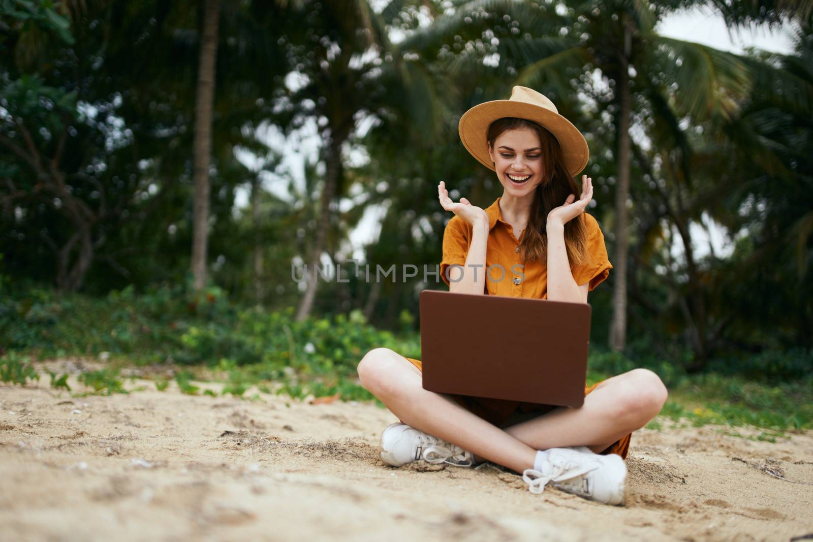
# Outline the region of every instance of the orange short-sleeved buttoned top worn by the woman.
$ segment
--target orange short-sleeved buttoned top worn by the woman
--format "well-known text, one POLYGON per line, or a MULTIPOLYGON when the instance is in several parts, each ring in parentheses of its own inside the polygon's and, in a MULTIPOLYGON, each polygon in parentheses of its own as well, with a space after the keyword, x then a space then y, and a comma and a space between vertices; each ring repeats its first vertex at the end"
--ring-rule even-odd
MULTIPOLYGON (((477 276, 485 270, 489 275, 485 281, 486 292, 491 295, 510 297, 533 297, 546 299, 548 297, 548 267, 547 262, 534 260, 524 262, 520 254, 520 241, 514 236, 514 228, 502 219, 500 211, 500 197, 498 197, 485 212, 489 215, 489 241, 485 249, 485 268, 477 268, 477 276), (494 264, 499 264, 494 266, 494 264), (524 265, 524 267, 520 267, 524 265), (500 268, 502 266, 502 269, 500 268), (503 271, 505 274, 503 275, 503 271), (524 276, 523 276, 524 275, 524 276), (500 277, 502 276, 502 280, 500 277)), ((584 220, 587 227, 587 250, 591 261, 584 266, 571 267, 576 284, 589 282, 592 290, 607 278, 612 265, 607 259, 604 246, 604 235, 593 215, 584 213, 574 220, 584 220)), ((443 259, 441 261, 441 277, 446 284, 447 269, 452 264, 465 267, 468 248, 472 244, 472 224, 467 223, 459 216, 454 215, 446 224, 443 233, 443 259)), ((466 273, 475 271, 466 269, 466 273)), ((457 280, 460 269, 450 269, 450 277, 457 280)), ((486 293, 484 292, 484 293, 486 293)))

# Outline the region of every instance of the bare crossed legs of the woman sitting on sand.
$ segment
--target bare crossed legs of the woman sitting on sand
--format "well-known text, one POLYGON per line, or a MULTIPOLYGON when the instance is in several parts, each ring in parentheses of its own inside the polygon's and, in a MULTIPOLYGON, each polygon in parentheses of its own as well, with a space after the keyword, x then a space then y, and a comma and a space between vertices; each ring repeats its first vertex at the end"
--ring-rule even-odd
POLYGON ((635 369, 599 384, 581 408, 562 407, 503 429, 452 397, 425 390, 418 368, 391 349, 370 350, 358 371, 364 388, 407 425, 516 472, 533 468, 540 449, 589 446, 600 452, 645 426, 667 398, 658 375, 635 369))

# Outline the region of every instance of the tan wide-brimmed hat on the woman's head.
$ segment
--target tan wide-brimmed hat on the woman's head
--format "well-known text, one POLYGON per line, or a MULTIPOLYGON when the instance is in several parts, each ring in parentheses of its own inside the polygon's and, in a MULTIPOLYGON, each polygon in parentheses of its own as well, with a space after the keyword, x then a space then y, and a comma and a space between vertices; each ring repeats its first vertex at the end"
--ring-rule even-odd
POLYGON ((576 176, 585 169, 590 155, 585 137, 569 120, 559 115, 554 103, 543 94, 520 86, 511 90, 510 99, 481 103, 460 117, 460 140, 466 150, 485 167, 494 171, 486 137, 489 125, 502 117, 518 117, 541 124, 559 140, 567 171, 576 176))

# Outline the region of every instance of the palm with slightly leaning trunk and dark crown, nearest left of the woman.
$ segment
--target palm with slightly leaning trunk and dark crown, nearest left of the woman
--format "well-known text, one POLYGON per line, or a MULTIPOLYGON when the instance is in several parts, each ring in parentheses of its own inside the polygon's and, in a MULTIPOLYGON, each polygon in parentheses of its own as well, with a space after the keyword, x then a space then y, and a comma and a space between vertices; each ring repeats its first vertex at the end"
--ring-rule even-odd
MULTIPOLYGON (((342 174, 341 149, 352 136, 359 114, 369 114, 385 97, 387 89, 377 75, 385 63, 397 62, 398 51, 389 43, 387 23, 409 2, 391 2, 381 13, 372 10, 368 0, 328 0, 302 2, 295 11, 301 24, 292 25, 289 40, 293 64, 307 78, 293 92, 290 102, 304 106, 302 117, 324 119, 324 145, 321 158, 326 165, 324 188, 320 194, 315 242, 307 258, 314 270, 328 240, 333 200, 346 189, 342 174)), ((296 319, 311 312, 318 282, 309 280, 300 301, 296 319)))

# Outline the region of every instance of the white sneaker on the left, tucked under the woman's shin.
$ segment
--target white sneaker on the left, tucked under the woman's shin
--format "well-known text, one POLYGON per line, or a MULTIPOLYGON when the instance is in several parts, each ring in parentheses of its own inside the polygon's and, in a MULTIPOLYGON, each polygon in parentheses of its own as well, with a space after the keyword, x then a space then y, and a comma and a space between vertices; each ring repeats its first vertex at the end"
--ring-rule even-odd
POLYGON ((472 466, 471 452, 410 427, 393 423, 381 433, 381 460, 387 465, 402 466, 423 459, 428 463, 472 466))

